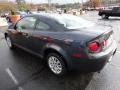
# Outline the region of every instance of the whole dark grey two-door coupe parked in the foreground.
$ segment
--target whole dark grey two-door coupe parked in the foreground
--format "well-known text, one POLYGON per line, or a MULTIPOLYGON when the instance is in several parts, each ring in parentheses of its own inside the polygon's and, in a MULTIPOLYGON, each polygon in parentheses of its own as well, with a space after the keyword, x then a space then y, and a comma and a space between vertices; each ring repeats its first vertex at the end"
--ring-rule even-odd
POLYGON ((44 58, 57 76, 67 71, 100 71, 116 52, 113 31, 80 17, 59 14, 29 15, 10 25, 8 46, 44 58))

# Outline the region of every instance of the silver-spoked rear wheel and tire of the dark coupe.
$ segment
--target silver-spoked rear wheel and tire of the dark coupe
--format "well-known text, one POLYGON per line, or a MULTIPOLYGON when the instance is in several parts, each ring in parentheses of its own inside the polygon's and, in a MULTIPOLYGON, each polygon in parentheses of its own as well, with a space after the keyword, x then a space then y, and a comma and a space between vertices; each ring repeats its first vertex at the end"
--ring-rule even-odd
POLYGON ((63 58, 56 53, 50 53, 47 56, 47 64, 49 69, 57 76, 66 74, 66 65, 63 58))

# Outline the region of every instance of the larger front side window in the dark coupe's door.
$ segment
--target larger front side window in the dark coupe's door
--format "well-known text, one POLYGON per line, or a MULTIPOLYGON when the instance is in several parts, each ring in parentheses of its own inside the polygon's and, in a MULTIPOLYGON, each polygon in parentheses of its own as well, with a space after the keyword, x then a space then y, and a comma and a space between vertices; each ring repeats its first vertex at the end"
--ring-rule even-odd
POLYGON ((32 29, 34 29, 35 22, 36 22, 36 18, 25 17, 17 23, 17 29, 19 29, 19 30, 24 30, 24 29, 32 30, 32 29))

